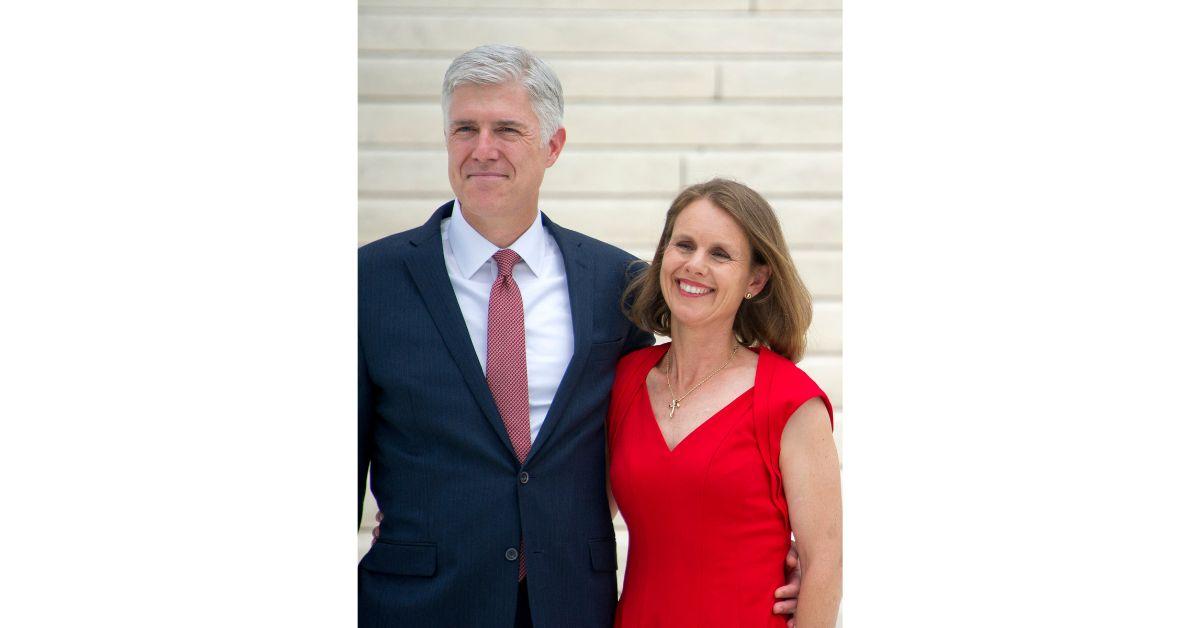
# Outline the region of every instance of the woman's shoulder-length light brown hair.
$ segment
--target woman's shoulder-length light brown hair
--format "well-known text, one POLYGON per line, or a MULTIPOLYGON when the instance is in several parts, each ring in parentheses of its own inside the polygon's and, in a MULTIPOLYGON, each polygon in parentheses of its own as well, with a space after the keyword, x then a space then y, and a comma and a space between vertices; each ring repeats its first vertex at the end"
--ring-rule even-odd
POLYGON ((796 271, 770 204, 758 192, 728 179, 692 185, 671 202, 654 259, 625 288, 622 300, 625 316, 641 329, 671 335, 671 311, 659 285, 662 253, 671 241, 679 213, 701 198, 707 198, 733 217, 750 241, 752 263, 770 269, 762 292, 744 299, 738 307, 733 318, 734 336, 744 345, 764 346, 798 361, 804 357, 805 334, 812 323, 812 297, 796 271))

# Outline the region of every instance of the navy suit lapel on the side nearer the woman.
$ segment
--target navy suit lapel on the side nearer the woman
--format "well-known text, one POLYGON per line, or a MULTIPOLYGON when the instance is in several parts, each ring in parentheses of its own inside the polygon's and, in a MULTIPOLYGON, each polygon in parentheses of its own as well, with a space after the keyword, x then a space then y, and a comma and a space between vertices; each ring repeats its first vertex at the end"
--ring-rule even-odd
POLYGON ((588 352, 592 349, 592 312, 593 285, 595 273, 587 256, 583 255, 583 240, 551 222, 550 217, 542 214, 542 223, 550 229, 550 234, 558 243, 558 250, 563 252, 563 267, 566 268, 566 289, 571 300, 571 323, 575 334, 575 351, 571 361, 566 365, 563 381, 558 384, 554 399, 550 403, 546 420, 538 431, 538 439, 529 449, 528 461, 532 461, 542 443, 550 439, 554 427, 562 421, 563 412, 572 397, 572 391, 583 375, 583 365, 588 361, 588 352))

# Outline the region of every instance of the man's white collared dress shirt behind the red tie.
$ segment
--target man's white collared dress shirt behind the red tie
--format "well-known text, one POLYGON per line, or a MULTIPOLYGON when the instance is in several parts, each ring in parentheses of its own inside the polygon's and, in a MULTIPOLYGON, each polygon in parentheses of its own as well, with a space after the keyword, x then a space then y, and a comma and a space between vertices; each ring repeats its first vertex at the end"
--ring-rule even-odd
MULTIPOLYGON (((541 223, 540 211, 533 225, 509 249, 521 256, 521 262, 512 268, 512 279, 521 289, 524 309, 529 432, 530 442, 536 442, 550 412, 550 402, 554 400, 566 364, 575 352, 566 268, 558 243, 541 223)), ((442 251, 458 309, 467 321, 470 342, 485 373, 487 301, 492 297, 497 274, 492 256, 499 250, 462 217, 462 209, 455 199, 450 217, 442 221, 442 251)))

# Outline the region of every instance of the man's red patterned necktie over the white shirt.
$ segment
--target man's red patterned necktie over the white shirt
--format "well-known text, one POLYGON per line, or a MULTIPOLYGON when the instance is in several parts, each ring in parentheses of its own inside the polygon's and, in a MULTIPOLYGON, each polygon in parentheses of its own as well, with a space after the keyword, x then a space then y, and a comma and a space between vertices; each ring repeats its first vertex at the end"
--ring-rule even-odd
MULTIPOLYGON (((529 455, 529 373, 524 355, 524 309, 512 267, 521 261, 515 251, 500 249, 492 256, 499 270, 487 301, 487 387, 509 431, 521 463, 529 455)), ((518 579, 526 575, 524 539, 521 539, 518 579)))

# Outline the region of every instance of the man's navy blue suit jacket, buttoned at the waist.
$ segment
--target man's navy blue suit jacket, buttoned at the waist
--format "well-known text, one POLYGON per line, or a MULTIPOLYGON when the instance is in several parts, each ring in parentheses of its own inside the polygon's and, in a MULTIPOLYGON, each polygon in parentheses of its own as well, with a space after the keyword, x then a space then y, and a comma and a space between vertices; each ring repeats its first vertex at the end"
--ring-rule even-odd
POLYGON ((521 465, 446 275, 451 208, 359 250, 359 518, 368 467, 385 514, 359 564, 359 624, 510 628, 508 550, 523 536, 534 624, 608 628, 605 415, 617 360, 653 343, 620 312, 634 258, 544 220, 566 267, 575 352, 521 465))

